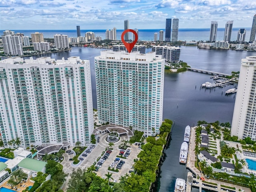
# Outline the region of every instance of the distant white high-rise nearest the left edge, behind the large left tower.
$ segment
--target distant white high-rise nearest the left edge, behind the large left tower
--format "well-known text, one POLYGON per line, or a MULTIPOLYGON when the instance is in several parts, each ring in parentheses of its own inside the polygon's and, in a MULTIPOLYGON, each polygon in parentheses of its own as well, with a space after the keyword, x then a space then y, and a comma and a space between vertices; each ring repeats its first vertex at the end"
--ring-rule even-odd
POLYGON ((4 53, 7 55, 23 55, 22 39, 17 35, 2 35, 4 53))

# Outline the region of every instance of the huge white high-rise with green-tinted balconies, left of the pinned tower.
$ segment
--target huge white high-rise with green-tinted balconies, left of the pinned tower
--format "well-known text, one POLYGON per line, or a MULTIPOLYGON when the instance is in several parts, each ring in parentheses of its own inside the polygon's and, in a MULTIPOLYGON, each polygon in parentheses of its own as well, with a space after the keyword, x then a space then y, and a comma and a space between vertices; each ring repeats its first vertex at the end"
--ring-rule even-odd
POLYGON ((94 129, 90 62, 12 57, 0 61, 0 131, 5 147, 90 142, 94 129))

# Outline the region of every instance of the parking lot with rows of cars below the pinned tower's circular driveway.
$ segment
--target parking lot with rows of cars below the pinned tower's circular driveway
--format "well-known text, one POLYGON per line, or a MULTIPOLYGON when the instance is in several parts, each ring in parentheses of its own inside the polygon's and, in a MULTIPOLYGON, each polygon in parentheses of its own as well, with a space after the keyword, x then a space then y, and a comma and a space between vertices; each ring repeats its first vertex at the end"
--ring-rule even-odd
MULTIPOLYGON (((128 156, 127 159, 123 159, 120 158, 120 160, 123 160, 125 163, 122 165, 121 169, 118 169, 119 172, 112 172, 112 178, 113 180, 117 180, 117 182, 119 182, 119 178, 120 176, 124 176, 126 173, 129 174, 130 170, 134 170, 132 168, 130 168, 131 166, 134 165, 134 159, 137 158, 138 153, 140 152, 140 149, 138 148, 138 146, 135 146, 135 144, 133 144, 131 147, 128 147, 127 149, 131 150, 130 155, 128 156)), ((106 177, 105 174, 108 173, 108 167, 114 162, 114 160, 117 158, 116 156, 119 156, 119 152, 120 149, 118 148, 114 148, 114 150, 112 150, 112 152, 110 153, 110 155, 108 156, 108 158, 105 160, 105 162, 102 164, 102 167, 98 169, 98 172, 96 172, 96 174, 100 177, 106 177)), ((125 153, 125 152, 124 152, 125 153)), ((120 162, 120 161, 119 161, 120 162)), ((96 164, 97 165, 97 164, 96 164)), ((116 169, 116 166, 114 166, 114 168, 116 169)), ((112 180, 112 182, 113 182, 112 180)))

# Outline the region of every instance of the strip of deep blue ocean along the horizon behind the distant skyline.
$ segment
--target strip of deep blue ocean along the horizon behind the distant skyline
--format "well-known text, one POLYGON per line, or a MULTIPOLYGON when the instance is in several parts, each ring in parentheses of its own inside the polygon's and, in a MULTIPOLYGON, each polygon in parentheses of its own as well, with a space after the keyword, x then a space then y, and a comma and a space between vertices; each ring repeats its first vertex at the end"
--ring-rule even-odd
MULTIPOLYGON (((240 28, 232 28, 231 32, 231 41, 236 41, 237 39, 237 33, 240 28)), ((244 28, 246 30, 246 38, 245 41, 249 41, 250 38, 250 32, 251 28, 244 28)), ((6 29, 7 30, 7 29, 6 29)), ((11 29, 8 29, 11 30, 11 29)), ((138 40, 144 40, 144 41, 153 41, 154 40, 154 33, 158 33, 158 39, 159 39, 159 31, 164 31, 164 37, 165 37, 165 29, 138 29, 138 40)), ((2 30, 3 32, 4 30, 2 30)), ((68 35, 68 37, 76 37, 76 29, 72 30, 12 30, 15 33, 23 33, 25 36, 31 37, 31 34, 34 32, 41 32, 44 34, 44 38, 53 38, 54 34, 64 34, 68 35)), ((102 40, 106 38, 106 29, 88 29, 84 30, 81 29, 81 36, 84 36, 86 32, 94 32, 95 36, 100 36, 102 40)), ((116 36, 117 39, 121 39, 121 34, 124 30, 117 29, 116 30, 116 36)), ((224 31, 225 28, 218 28, 217 30, 217 37, 216 40, 223 40, 224 38, 224 31)), ((3 33, 2 33, 3 34, 3 33)), ((208 41, 210 37, 210 28, 180 28, 178 30, 178 40, 182 41, 208 41)), ((131 36, 130 36, 131 39, 131 36)))

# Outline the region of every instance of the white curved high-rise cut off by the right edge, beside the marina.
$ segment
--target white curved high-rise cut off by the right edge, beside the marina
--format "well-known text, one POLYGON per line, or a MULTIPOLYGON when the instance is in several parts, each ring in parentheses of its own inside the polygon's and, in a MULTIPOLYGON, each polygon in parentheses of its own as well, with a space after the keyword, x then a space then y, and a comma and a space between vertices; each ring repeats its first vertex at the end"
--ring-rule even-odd
POLYGON ((256 56, 241 61, 231 136, 256 141, 256 56))

